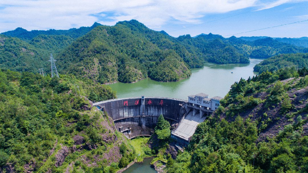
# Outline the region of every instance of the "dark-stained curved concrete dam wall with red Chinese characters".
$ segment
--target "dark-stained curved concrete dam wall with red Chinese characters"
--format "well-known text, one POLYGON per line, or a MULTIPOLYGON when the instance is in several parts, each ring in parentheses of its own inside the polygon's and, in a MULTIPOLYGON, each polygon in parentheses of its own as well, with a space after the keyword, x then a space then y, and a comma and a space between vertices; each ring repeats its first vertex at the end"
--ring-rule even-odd
POLYGON ((178 123, 186 112, 186 100, 163 97, 135 97, 93 103, 106 111, 117 127, 128 138, 152 135, 160 114, 169 123, 178 123))

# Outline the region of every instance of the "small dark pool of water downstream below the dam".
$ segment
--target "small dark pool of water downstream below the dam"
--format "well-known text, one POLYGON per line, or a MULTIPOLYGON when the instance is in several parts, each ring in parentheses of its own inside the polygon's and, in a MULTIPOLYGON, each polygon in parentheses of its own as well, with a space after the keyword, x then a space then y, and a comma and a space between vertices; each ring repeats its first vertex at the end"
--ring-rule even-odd
POLYGON ((144 159, 142 163, 134 163, 122 173, 157 173, 157 171, 150 166, 151 160, 152 159, 144 159))

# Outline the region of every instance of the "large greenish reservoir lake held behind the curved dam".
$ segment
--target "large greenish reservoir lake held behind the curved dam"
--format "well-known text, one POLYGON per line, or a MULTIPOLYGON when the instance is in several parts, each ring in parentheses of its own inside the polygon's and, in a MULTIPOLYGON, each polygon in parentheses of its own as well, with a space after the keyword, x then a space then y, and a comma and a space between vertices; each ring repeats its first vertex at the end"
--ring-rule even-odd
POLYGON ((157 82, 146 78, 136 83, 117 82, 109 84, 116 91, 118 98, 126 97, 169 97, 176 99, 188 99, 188 95, 205 93, 209 98, 214 96, 224 97, 230 90, 230 86, 241 78, 247 79, 255 76, 253 67, 263 59, 250 59, 249 64, 211 64, 207 63, 203 68, 192 69, 189 78, 178 82, 157 82), (231 73, 233 72, 233 73, 231 73))

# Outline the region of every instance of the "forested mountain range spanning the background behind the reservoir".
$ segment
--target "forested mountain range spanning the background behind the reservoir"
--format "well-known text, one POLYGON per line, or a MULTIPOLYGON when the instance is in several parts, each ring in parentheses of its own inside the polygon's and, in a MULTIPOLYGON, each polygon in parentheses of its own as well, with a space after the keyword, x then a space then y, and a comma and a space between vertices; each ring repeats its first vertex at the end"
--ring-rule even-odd
POLYGON ((308 52, 307 48, 272 38, 251 42, 211 33, 174 38, 164 31, 150 30, 136 20, 118 22, 115 26, 95 23, 70 30, 18 28, 2 34, 6 34, 0 36, 2 69, 38 72, 43 68, 50 73, 48 59, 53 53, 61 74, 74 74, 98 83, 135 82, 146 77, 177 81, 189 77, 190 68, 200 68, 205 62, 249 63, 248 57, 308 52))

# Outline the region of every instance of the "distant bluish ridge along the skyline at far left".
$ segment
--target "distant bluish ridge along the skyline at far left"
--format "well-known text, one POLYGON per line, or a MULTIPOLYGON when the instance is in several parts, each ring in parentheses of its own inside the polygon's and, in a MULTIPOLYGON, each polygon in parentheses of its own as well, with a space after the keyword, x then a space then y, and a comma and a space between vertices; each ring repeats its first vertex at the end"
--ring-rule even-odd
POLYGON ((25 29, 22 28, 16 28, 15 30, 12 31, 6 31, 3 32, 1 34, 6 35, 6 36, 11 36, 11 37, 17 37, 23 40, 31 40, 32 38, 40 35, 40 34, 44 34, 44 35, 65 35, 65 36, 69 36, 71 38, 78 38, 83 36, 84 34, 87 34, 90 30, 92 30, 93 28, 95 28, 96 26, 101 26, 101 24, 95 22, 92 26, 88 26, 88 27, 80 27, 78 29, 76 28, 71 28, 69 30, 54 30, 54 29, 50 29, 50 30, 31 30, 31 31, 27 31, 25 29))

